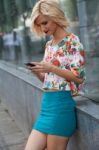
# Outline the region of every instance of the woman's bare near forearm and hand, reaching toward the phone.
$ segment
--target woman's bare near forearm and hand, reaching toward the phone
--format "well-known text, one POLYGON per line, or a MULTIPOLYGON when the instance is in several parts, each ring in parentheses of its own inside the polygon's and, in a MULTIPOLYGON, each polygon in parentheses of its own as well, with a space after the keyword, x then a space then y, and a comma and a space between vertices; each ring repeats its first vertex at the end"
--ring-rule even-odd
POLYGON ((82 78, 76 77, 70 70, 67 69, 63 70, 47 62, 35 63, 35 64, 36 66, 32 67, 32 72, 36 72, 37 77, 42 81, 44 80, 44 73, 53 72, 56 75, 65 78, 67 81, 74 81, 79 84, 83 82, 82 78))

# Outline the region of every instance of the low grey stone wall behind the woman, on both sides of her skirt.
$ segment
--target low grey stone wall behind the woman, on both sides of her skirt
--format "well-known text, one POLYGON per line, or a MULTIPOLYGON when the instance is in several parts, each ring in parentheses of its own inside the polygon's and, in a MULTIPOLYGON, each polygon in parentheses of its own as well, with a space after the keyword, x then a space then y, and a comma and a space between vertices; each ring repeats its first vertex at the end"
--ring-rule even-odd
MULTIPOLYGON (((41 82, 27 70, 0 63, 0 99, 27 137, 39 115, 41 87, 41 82)), ((68 150, 98 150, 99 106, 83 96, 76 97, 75 101, 77 130, 68 150)))

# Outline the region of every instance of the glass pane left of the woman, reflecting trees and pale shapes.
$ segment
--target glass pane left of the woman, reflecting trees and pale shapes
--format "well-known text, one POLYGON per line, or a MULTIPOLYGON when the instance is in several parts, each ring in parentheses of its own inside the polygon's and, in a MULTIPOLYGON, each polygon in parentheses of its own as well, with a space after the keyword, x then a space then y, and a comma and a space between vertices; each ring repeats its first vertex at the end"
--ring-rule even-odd
POLYGON ((34 3, 35 0, 0 0, 0 59, 23 65, 44 52, 45 38, 30 31, 34 3))

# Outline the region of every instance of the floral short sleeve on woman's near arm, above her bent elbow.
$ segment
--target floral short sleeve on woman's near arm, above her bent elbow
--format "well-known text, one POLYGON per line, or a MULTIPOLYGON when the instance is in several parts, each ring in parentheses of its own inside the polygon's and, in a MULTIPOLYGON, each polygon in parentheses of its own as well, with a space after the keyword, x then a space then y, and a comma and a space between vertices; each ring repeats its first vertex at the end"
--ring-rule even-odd
POLYGON ((69 45, 67 42, 69 68, 78 78, 85 79, 85 56, 84 48, 78 36, 72 35, 69 45))

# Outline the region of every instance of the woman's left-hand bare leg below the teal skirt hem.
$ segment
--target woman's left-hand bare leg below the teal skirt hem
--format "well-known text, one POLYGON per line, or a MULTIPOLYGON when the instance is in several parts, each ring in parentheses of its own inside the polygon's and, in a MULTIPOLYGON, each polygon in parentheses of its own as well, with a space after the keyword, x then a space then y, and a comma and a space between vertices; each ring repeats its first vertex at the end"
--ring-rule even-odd
POLYGON ((25 150, 44 150, 47 144, 47 135, 37 130, 32 130, 25 150))

